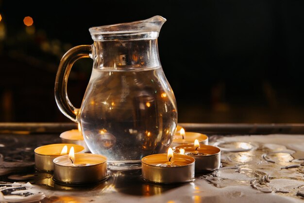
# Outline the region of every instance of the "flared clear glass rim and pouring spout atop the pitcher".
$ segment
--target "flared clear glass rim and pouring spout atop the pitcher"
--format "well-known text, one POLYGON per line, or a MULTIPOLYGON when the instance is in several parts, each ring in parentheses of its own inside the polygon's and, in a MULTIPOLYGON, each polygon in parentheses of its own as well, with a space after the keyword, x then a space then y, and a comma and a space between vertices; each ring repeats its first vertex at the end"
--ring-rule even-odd
POLYGON ((91 27, 93 40, 113 40, 129 38, 156 38, 166 18, 153 16, 145 20, 91 27))

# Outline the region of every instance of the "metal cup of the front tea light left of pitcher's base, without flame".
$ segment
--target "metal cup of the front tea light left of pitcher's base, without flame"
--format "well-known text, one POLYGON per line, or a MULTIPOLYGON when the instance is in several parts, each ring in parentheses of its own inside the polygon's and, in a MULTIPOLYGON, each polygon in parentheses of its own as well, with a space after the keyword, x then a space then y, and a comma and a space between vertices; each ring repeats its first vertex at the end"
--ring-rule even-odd
POLYGON ((67 185, 81 185, 105 180, 107 173, 107 158, 100 154, 75 154, 72 164, 68 155, 54 159, 55 182, 67 185))

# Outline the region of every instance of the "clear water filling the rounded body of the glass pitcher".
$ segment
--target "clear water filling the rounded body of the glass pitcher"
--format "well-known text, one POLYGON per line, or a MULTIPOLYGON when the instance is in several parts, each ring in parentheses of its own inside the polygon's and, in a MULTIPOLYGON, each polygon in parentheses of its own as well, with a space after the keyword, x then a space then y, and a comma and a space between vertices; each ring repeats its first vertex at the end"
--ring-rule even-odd
POLYGON ((165 153, 177 123, 175 98, 161 67, 94 68, 81 110, 88 148, 110 165, 138 166, 144 156, 165 153))

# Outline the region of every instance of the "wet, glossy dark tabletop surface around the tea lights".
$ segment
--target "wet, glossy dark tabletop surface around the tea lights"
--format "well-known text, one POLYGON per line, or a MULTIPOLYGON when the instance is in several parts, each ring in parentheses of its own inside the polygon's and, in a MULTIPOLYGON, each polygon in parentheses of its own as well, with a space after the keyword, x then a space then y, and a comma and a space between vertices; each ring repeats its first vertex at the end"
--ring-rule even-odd
POLYGON ((60 185, 34 170, 34 149, 60 143, 59 134, 0 135, 0 202, 203 203, 303 202, 304 135, 210 136, 222 148, 219 170, 181 185, 155 185, 141 171, 108 171, 90 185, 60 185), (270 194, 271 193, 271 194, 270 194))

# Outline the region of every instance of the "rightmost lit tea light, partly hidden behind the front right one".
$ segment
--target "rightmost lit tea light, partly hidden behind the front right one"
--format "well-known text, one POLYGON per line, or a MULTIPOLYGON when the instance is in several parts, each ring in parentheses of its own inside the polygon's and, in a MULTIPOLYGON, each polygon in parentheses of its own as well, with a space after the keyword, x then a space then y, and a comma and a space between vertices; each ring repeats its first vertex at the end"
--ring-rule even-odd
MULTIPOLYGON (((220 168, 220 148, 210 145, 179 145, 173 148, 176 154, 182 153, 195 159, 195 172, 210 172, 220 168)), ((175 155, 175 154, 174 154, 175 155)))

